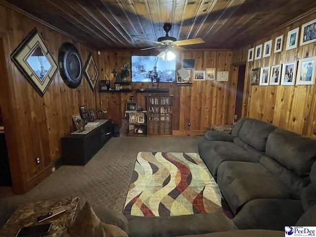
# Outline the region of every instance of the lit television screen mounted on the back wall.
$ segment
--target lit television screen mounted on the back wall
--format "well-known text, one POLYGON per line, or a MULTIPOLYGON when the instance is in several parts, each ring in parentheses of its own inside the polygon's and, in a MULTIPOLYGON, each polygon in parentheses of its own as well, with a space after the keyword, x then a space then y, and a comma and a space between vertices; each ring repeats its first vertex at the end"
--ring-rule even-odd
POLYGON ((157 56, 132 56, 133 82, 175 82, 176 59, 165 61, 157 56))

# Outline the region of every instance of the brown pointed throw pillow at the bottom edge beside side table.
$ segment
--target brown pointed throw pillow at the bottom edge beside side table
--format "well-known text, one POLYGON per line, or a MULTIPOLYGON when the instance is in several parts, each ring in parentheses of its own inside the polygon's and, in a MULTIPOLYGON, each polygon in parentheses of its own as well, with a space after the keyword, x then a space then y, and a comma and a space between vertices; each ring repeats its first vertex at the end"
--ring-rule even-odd
POLYGON ((128 237, 119 227, 102 223, 86 202, 77 218, 60 237, 128 237))

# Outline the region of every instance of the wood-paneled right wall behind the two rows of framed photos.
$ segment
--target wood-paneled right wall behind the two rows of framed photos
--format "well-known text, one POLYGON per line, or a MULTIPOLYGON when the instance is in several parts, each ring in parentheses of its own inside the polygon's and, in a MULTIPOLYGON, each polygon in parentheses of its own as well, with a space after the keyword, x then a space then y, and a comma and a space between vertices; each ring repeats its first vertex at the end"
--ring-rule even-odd
POLYGON ((284 129, 316 138, 316 85, 250 85, 251 70, 254 68, 273 66, 316 56, 315 43, 298 46, 298 48, 288 51, 285 50, 287 32, 301 27, 302 24, 315 18, 316 14, 311 14, 293 25, 273 33, 270 37, 234 51, 233 62, 245 62, 247 61, 248 49, 268 40, 273 40, 271 57, 254 60, 246 65, 244 88, 244 103, 246 106, 243 108, 243 116, 271 122, 284 129), (274 54, 275 38, 283 34, 283 51, 274 54))

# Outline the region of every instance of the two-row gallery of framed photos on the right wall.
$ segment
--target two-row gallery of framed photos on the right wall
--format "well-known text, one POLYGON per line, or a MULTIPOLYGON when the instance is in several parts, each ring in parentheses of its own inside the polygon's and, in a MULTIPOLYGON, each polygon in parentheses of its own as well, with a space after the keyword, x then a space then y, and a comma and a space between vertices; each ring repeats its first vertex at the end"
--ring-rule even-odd
MULTIPOLYGON (((300 27, 288 31, 286 41, 284 35, 274 40, 274 54, 296 49, 300 46, 316 42, 316 19, 300 27), (283 45, 285 43, 285 45, 283 45)), ((272 55, 273 40, 257 45, 248 50, 247 62, 253 62, 272 55)), ((285 62, 273 66, 254 68, 251 72, 251 85, 314 85, 316 76, 316 56, 306 57, 298 61, 285 62)))

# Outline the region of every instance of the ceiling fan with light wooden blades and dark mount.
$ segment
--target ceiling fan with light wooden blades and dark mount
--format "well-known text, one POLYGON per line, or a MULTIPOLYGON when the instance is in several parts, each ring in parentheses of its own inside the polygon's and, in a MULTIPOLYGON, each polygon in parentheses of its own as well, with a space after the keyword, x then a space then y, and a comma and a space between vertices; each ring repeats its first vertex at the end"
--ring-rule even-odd
MULTIPOLYGON (((176 38, 169 36, 168 32, 171 30, 170 23, 164 23, 163 30, 166 32, 166 36, 159 37, 157 41, 146 40, 146 41, 157 43, 157 44, 159 44, 158 46, 143 48, 141 50, 147 50, 147 49, 152 49, 152 48, 165 48, 166 50, 168 50, 174 46, 183 46, 183 45, 189 45, 189 44, 204 43, 204 40, 202 40, 201 38, 194 38, 194 39, 190 39, 190 40, 177 40, 176 38)), ((145 39, 141 39, 141 40, 145 40, 145 39)), ((179 47, 179 48, 181 48, 181 47, 179 47)))

